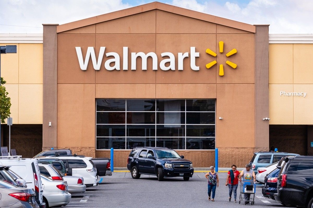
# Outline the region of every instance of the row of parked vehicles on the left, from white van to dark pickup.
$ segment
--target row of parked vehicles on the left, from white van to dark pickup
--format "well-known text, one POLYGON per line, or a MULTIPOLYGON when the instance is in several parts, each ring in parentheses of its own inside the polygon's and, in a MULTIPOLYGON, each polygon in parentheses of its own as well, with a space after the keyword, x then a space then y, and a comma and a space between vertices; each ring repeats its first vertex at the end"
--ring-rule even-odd
POLYGON ((8 192, 2 194, 0 207, 65 206, 71 193, 85 192, 86 186, 98 185, 99 177, 111 175, 109 158, 71 155, 70 150, 50 152, 34 158, 0 157, 0 192, 8 192))

